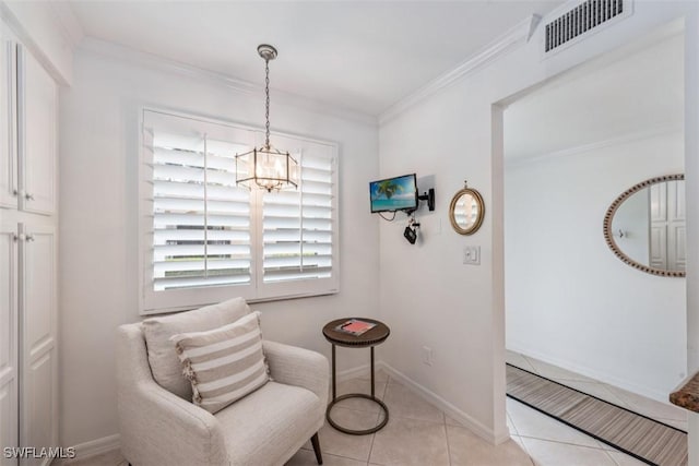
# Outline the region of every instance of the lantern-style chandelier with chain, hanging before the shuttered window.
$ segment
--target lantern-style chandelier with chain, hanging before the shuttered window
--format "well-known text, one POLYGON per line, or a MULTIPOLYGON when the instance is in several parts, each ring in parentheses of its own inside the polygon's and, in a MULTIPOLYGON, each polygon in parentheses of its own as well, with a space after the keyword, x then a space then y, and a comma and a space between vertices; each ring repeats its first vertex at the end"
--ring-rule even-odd
POLYGON ((258 53, 264 59, 264 118, 266 120, 264 144, 245 154, 236 154, 236 186, 248 189, 259 187, 268 192, 285 188, 298 188, 298 163, 288 154, 270 144, 270 60, 276 58, 276 49, 271 45, 258 46, 258 53))

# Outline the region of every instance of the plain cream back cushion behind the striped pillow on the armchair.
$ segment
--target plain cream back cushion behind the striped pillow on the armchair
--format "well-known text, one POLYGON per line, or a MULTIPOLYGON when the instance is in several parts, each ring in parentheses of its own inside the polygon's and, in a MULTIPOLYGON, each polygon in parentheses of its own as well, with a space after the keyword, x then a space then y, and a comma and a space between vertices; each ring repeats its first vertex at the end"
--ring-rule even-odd
POLYGON ((201 332, 233 323, 250 313, 242 298, 234 298, 194 311, 150 318, 142 322, 153 379, 163 389, 187 401, 192 399, 192 386, 182 375, 180 361, 170 337, 178 333, 201 332))

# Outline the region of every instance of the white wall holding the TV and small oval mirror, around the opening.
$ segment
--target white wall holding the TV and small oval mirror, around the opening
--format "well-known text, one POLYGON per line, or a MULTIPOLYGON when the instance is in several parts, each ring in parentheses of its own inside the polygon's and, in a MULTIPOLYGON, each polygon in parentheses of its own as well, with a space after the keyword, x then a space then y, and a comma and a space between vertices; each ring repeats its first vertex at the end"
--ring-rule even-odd
MULTIPOLYGON (((380 316, 392 327, 384 360, 435 399, 448 402, 462 420, 494 442, 508 437, 502 350, 502 128, 501 108, 494 105, 512 100, 531 86, 677 17, 688 15, 687 22, 694 25, 696 13, 694 3, 636 2, 632 16, 546 60, 540 51, 540 23, 526 45, 413 103, 380 127, 381 176, 434 175, 437 193, 437 211, 425 222, 420 246, 402 240, 403 225, 381 225, 380 316), (464 179, 481 191, 486 203, 483 227, 472 237, 454 234, 447 222, 449 200, 464 179), (462 265, 465 244, 481 246, 482 265, 462 265), (420 362, 424 345, 434 349, 433 366, 420 362)), ((686 53, 689 76, 699 64, 690 40, 686 53)), ((694 107, 696 93, 690 95, 695 100, 688 106, 694 107)), ((696 147, 696 141, 691 144, 696 147)), ((687 150, 688 157, 697 156, 689 144, 687 150)), ((687 164, 687 175, 699 176, 699 166, 687 164)), ((688 188, 688 193, 695 192, 696 188, 688 188)), ((689 215, 699 217, 696 207, 689 215)), ((697 235, 694 226, 688 223, 690 238, 697 235)), ((690 253, 689 261, 699 261, 699 251, 690 253)), ((690 274, 688 283, 691 279, 696 275, 690 274)), ((698 304, 699 299, 690 295, 692 312, 698 304)))

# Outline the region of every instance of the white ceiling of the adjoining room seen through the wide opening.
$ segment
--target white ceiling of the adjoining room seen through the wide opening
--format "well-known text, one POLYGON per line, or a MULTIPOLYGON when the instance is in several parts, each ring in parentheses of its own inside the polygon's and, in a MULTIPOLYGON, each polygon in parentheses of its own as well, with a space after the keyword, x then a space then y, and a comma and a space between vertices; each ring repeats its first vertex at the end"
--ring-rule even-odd
POLYGON ((509 164, 589 144, 680 130, 684 36, 671 29, 556 79, 505 111, 509 164))

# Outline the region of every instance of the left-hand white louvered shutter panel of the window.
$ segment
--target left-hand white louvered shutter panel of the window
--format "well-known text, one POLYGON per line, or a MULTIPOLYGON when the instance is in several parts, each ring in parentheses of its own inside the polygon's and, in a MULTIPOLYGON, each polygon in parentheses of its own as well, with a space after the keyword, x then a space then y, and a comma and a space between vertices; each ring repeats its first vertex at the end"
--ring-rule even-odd
POLYGON ((235 186, 246 146, 153 133, 153 289, 251 282, 250 193, 235 186))

